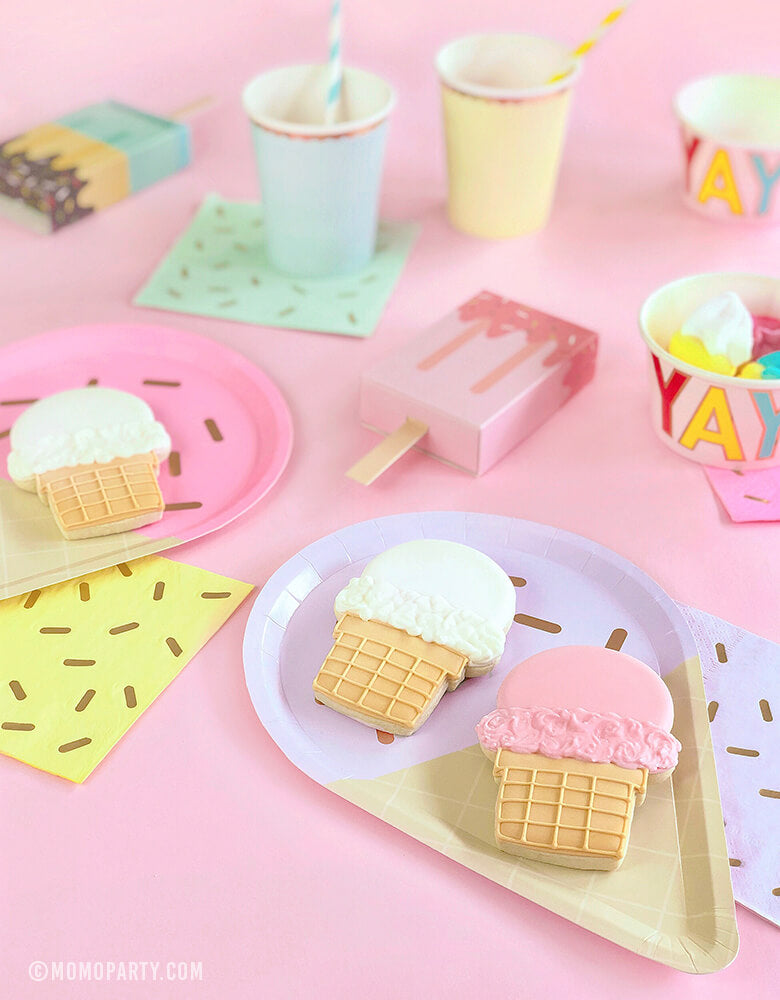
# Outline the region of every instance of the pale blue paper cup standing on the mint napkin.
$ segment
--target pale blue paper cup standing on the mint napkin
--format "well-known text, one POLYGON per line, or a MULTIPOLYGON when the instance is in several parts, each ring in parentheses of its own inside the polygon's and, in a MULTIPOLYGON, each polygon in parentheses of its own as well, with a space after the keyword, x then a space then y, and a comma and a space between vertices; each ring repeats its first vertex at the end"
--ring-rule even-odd
POLYGON ((325 123, 327 65, 286 66, 244 90, 257 156, 269 262, 327 278, 365 267, 376 249, 379 191, 393 88, 344 69, 333 124, 325 123))

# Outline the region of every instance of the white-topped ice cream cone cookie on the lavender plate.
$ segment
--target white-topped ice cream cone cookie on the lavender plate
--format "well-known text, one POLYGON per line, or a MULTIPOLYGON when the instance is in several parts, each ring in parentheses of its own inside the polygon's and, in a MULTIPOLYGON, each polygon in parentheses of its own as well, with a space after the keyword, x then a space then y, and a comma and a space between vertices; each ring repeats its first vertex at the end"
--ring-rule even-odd
POLYGON ((482 552, 423 539, 372 559, 334 610, 335 642, 314 679, 315 698, 367 726, 410 736, 445 691, 496 665, 515 590, 482 552))

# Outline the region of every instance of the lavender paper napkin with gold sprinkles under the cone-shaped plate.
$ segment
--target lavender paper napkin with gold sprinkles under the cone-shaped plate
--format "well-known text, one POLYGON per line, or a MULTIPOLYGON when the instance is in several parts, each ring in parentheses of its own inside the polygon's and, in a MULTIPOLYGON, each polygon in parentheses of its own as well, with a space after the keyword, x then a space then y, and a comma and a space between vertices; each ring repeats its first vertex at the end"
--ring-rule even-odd
POLYGON ((780 926, 780 645, 680 610, 701 657, 734 896, 780 926))

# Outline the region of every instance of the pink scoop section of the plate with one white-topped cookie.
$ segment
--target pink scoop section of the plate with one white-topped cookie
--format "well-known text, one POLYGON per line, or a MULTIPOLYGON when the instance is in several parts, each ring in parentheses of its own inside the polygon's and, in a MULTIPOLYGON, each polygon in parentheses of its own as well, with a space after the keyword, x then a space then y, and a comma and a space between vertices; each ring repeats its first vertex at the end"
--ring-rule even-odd
MULTIPOLYGON (((257 503, 287 464, 293 440, 287 404, 247 358, 170 327, 99 324, 53 330, 0 350, 0 475, 7 478, 10 450, 2 432, 29 401, 94 381, 146 400, 178 456, 178 464, 169 460, 160 470, 163 497, 173 509, 156 524, 108 536, 117 539, 113 562, 132 557, 133 536, 144 540, 138 547, 146 554, 155 551, 149 540, 160 543, 159 551, 223 527, 257 503)), ((81 571, 78 553, 88 544, 65 543, 74 572, 81 571)), ((110 553, 100 558, 112 565, 110 553)), ((59 579, 71 575, 63 566, 59 579)), ((17 592, 35 585, 23 583, 17 592)))

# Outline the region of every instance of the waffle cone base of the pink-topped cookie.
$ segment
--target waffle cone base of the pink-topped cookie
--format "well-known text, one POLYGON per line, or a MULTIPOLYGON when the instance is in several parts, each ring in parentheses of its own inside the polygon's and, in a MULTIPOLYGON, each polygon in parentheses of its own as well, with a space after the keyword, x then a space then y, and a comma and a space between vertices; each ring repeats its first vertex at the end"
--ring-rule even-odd
POLYGON ((615 871, 623 862, 647 771, 499 750, 496 844, 567 868, 615 871))

